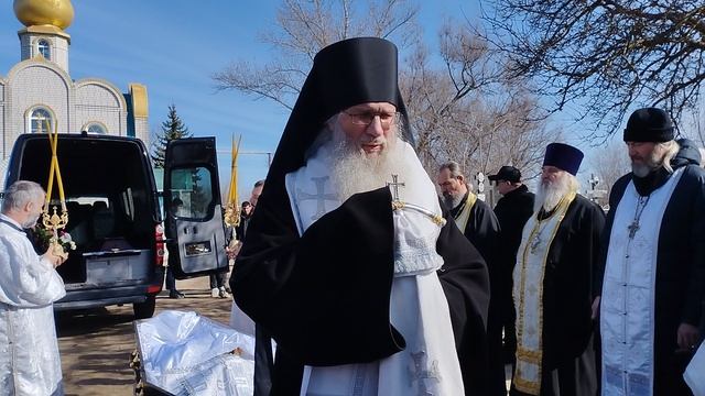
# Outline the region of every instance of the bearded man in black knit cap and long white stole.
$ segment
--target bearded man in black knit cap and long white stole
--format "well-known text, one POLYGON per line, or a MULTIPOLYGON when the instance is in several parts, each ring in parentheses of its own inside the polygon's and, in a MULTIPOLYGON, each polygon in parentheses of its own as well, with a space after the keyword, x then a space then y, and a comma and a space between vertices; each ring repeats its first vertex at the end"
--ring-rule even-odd
MULTIPOLYGON (((690 395, 683 371, 705 296, 705 172, 679 152, 670 116, 627 122, 632 172, 615 183, 601 278, 603 391, 690 395)), ((599 299, 598 301, 599 302, 599 299)))

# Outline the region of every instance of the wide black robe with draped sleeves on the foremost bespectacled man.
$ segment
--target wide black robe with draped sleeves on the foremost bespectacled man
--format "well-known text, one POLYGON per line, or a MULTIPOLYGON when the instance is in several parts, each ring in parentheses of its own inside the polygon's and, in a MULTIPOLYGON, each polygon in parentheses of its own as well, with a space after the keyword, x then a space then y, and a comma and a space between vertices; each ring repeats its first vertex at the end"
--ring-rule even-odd
MULTIPOLYGON (((304 365, 367 363, 404 349, 389 320, 389 189, 352 196, 301 237, 286 197, 283 183, 268 182, 230 279, 238 306, 278 343, 272 395, 299 394, 304 365)), ((485 262, 451 222, 436 250, 466 394, 485 395, 485 262)))

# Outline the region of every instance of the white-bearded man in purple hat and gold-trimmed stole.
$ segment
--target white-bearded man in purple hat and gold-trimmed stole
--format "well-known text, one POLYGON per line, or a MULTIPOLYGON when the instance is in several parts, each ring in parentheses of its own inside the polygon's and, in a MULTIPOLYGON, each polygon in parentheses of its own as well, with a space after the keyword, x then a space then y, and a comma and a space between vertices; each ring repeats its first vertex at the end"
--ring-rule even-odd
POLYGON ((512 395, 595 395, 593 278, 603 210, 578 191, 583 153, 546 147, 534 213, 514 267, 517 366, 512 395))

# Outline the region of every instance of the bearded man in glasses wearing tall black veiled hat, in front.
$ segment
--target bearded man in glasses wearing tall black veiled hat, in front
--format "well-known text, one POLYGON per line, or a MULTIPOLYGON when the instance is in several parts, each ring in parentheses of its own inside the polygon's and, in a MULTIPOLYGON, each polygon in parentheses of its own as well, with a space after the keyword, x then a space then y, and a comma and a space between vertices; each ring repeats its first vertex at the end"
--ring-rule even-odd
POLYGON ((231 277, 272 395, 485 393, 487 268, 402 140, 397 59, 323 48, 279 143, 231 277))

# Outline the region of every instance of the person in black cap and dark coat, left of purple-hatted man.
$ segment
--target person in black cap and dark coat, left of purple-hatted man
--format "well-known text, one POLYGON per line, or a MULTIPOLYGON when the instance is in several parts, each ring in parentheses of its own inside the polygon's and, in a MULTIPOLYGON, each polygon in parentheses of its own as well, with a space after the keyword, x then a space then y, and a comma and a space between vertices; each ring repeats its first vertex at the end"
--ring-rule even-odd
POLYGON ((517 312, 511 298, 511 274, 517 264, 517 251, 521 244, 521 231, 533 213, 534 195, 529 193, 529 188, 521 182, 521 172, 513 166, 502 166, 496 175, 487 177, 495 183, 497 193, 502 197, 495 206, 495 215, 499 221, 499 250, 497 252, 498 266, 508 276, 506 289, 499 292, 501 297, 502 329, 505 334, 503 360, 514 364, 514 353, 517 352, 517 329, 514 321, 517 312))

